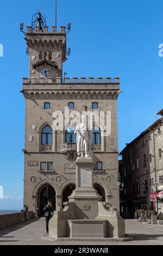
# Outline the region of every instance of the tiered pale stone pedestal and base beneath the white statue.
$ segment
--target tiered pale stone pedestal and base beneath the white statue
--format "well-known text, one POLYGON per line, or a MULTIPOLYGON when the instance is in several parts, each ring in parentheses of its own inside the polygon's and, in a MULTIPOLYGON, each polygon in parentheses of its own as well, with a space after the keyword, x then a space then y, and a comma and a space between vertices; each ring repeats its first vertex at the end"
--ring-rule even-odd
POLYGON ((76 190, 49 221, 52 237, 125 237, 124 220, 93 188, 92 157, 76 160, 76 190))

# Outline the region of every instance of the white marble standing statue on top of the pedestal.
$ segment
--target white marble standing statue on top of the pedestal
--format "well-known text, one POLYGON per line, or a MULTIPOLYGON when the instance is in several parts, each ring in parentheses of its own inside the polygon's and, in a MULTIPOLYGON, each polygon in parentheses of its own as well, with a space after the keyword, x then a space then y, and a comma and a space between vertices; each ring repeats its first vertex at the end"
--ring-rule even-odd
POLYGON ((85 115, 82 115, 82 123, 78 124, 74 134, 77 133, 77 153, 78 156, 90 157, 89 149, 89 131, 86 123, 85 115))

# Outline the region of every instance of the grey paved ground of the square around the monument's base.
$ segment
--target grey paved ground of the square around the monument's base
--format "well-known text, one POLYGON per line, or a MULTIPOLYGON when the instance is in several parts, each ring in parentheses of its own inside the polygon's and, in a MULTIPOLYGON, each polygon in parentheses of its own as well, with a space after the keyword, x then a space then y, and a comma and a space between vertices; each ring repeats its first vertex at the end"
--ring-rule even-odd
POLYGON ((163 245, 163 225, 126 220, 126 234, 133 241, 42 240, 45 218, 12 225, 0 230, 0 245, 163 245))

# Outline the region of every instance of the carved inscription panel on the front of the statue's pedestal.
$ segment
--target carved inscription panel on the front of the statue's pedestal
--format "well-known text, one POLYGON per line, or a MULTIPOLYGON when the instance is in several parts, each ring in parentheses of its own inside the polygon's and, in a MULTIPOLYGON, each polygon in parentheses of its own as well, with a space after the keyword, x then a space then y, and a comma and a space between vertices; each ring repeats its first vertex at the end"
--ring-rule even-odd
POLYGON ((91 187, 91 168, 79 169, 79 186, 91 187))

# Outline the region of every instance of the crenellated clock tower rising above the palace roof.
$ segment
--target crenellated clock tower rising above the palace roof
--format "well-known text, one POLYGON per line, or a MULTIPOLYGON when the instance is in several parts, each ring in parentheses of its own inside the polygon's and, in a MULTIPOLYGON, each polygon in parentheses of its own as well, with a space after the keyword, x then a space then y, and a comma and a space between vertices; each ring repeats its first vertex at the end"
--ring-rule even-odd
POLYGON ((29 78, 62 78, 62 63, 66 60, 65 27, 53 26, 48 31, 47 26, 40 23, 34 29, 27 27, 26 42, 29 52, 29 78))

